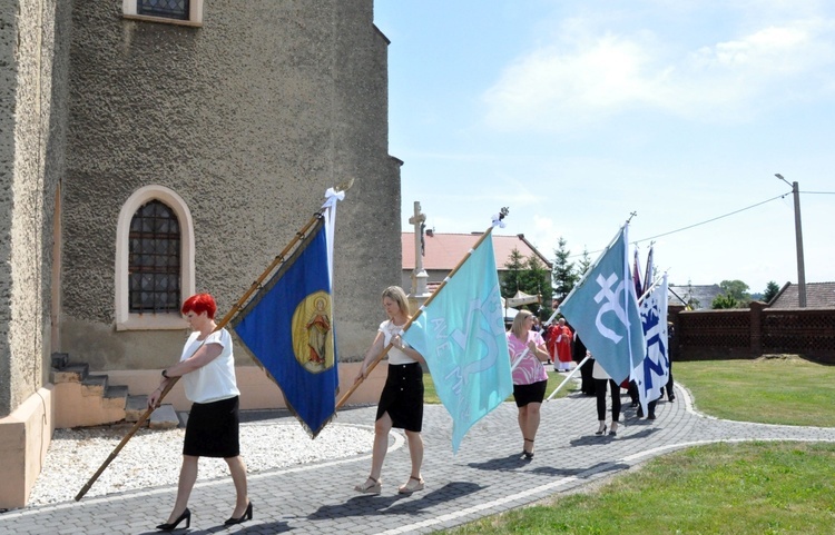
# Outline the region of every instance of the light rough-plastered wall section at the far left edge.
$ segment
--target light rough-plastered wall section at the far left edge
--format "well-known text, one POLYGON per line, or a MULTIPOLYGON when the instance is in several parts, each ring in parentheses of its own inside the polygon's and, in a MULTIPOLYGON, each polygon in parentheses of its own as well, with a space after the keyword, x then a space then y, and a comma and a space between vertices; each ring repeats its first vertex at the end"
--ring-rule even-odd
POLYGON ((66 122, 55 82, 67 69, 63 3, 0 2, 0 416, 47 379, 52 217, 66 122))

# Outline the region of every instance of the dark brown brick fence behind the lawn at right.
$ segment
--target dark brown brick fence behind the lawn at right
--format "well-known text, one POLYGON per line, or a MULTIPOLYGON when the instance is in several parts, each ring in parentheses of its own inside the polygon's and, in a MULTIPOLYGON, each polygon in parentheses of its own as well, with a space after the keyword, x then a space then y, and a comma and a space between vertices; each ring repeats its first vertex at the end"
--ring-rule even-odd
POLYGON ((835 364, 835 308, 750 308, 684 310, 670 306, 674 360, 755 358, 795 354, 835 364))

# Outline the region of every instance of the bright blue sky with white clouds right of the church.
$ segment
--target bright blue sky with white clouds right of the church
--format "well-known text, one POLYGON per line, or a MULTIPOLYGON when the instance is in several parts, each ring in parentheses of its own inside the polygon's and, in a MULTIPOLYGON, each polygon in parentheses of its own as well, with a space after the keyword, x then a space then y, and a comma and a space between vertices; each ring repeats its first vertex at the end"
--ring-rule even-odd
POLYGON ((629 240, 644 260, 659 236, 671 283, 756 293, 797 283, 779 172, 806 281, 835 280, 835 2, 376 0, 374 19, 404 231, 414 201, 438 232, 508 206, 498 234, 593 260, 636 211, 629 240))

